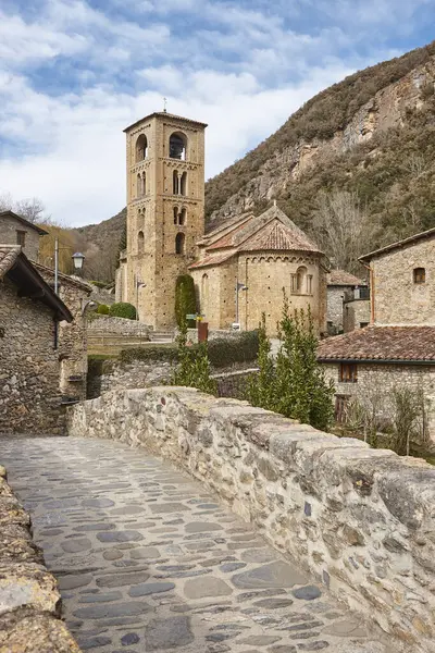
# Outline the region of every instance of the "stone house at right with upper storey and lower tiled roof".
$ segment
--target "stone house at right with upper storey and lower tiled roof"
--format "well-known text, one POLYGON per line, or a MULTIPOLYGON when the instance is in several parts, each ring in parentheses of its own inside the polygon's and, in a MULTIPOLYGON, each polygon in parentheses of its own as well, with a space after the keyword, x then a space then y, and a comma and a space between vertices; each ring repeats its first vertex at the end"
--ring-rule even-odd
POLYGON ((326 338, 319 361, 336 389, 336 417, 350 397, 422 391, 435 447, 435 229, 361 257, 369 268, 371 320, 366 329, 326 338))

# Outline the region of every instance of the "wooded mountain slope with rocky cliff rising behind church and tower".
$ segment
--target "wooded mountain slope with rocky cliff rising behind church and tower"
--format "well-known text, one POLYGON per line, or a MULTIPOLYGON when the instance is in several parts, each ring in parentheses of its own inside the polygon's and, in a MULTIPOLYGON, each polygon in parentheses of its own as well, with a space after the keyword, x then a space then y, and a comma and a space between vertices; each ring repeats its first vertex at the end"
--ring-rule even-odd
MULTIPOLYGON (((434 81, 435 41, 322 91, 206 184, 207 230, 277 199, 357 270, 365 250, 435 226, 434 81)), ((105 261, 98 278, 113 274, 124 224, 125 210, 77 230, 105 261)))

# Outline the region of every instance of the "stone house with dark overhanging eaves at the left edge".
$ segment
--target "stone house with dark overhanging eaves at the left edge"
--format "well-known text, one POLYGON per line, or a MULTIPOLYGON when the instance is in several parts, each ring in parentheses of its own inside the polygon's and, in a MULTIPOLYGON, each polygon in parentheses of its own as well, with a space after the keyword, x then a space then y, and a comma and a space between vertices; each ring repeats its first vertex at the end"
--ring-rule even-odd
POLYGON ((17 245, 0 245, 0 432, 62 433, 60 323, 73 316, 17 245))

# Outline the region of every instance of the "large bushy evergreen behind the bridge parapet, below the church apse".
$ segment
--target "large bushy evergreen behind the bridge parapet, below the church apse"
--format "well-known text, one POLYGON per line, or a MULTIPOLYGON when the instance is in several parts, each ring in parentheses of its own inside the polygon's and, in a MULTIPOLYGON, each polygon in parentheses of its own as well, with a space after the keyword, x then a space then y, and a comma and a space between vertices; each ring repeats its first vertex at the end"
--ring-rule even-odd
POLYGON ((334 417, 334 386, 326 382, 316 360, 318 338, 311 311, 295 311, 290 317, 284 293, 283 316, 278 323, 281 347, 275 360, 270 355, 271 344, 264 323, 263 316, 258 359, 260 371, 249 383, 248 399, 254 406, 318 429, 327 429, 334 417))

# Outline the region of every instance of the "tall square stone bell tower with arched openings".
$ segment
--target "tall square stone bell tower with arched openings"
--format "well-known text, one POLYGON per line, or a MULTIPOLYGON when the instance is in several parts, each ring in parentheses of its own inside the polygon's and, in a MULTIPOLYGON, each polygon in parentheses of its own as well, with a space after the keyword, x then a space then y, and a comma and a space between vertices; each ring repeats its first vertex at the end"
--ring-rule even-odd
POLYGON ((127 250, 123 299, 154 329, 175 325, 175 281, 204 233, 207 125, 151 113, 127 137, 127 250))

